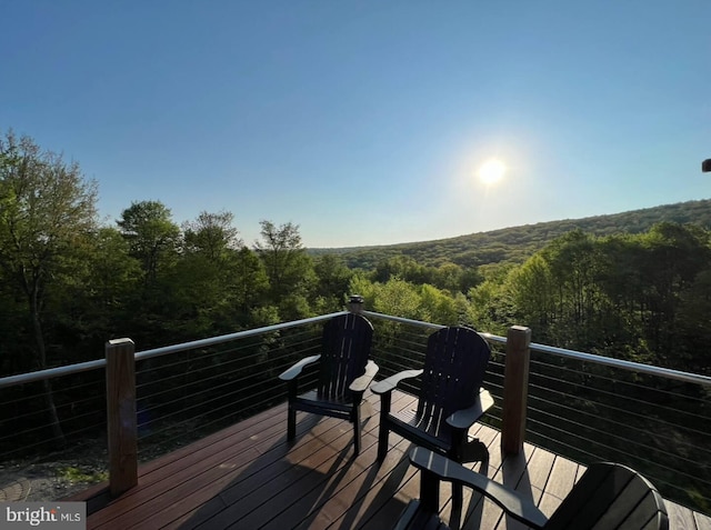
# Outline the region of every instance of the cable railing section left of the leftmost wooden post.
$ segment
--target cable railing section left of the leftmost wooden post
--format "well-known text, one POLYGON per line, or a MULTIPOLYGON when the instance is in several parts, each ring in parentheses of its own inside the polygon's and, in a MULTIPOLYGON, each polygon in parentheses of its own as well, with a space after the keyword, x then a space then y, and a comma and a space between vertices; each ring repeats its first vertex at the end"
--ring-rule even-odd
POLYGON ((108 479, 102 370, 4 387, 0 402, 3 500, 56 500, 108 479))

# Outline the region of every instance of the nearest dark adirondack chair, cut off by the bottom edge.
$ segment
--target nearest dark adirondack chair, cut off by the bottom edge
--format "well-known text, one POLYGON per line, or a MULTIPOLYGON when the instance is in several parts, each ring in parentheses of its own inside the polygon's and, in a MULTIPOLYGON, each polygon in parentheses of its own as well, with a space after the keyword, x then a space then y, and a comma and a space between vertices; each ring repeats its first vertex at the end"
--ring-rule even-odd
POLYGON ((669 518, 657 489, 637 471, 618 463, 590 466, 550 519, 515 490, 488 479, 424 448, 410 452, 421 470, 420 500, 412 500, 395 530, 449 528, 440 520, 439 484, 472 488, 499 504, 513 519, 545 530, 667 530, 669 518))

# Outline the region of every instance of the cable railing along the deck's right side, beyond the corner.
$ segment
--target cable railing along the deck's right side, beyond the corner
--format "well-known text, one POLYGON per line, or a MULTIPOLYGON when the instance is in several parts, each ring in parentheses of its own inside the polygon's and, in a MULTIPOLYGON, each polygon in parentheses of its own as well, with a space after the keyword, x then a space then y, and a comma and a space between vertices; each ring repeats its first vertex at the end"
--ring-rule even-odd
MULTIPOLYGON (((385 376, 421 368, 424 337, 441 326, 365 314, 389 328, 375 333, 385 376)), ((494 397, 482 421, 501 429, 507 338, 481 334, 492 347, 484 384, 494 397)), ((538 343, 529 349, 527 442, 583 464, 627 464, 668 499, 711 513, 711 378, 538 343)))

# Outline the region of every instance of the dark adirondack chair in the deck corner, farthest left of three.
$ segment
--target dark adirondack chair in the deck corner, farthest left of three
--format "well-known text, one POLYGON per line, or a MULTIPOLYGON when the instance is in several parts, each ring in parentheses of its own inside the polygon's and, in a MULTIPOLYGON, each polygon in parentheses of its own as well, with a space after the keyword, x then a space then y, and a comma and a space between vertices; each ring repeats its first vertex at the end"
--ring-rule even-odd
POLYGON ((369 360, 372 336, 373 327, 364 317, 334 317, 323 326, 321 354, 304 358, 279 376, 289 393, 288 440, 296 438, 297 411, 301 410, 351 421, 354 451, 360 452, 360 403, 378 372, 369 360), (300 394, 299 376, 309 367, 318 369, 318 383, 300 394))

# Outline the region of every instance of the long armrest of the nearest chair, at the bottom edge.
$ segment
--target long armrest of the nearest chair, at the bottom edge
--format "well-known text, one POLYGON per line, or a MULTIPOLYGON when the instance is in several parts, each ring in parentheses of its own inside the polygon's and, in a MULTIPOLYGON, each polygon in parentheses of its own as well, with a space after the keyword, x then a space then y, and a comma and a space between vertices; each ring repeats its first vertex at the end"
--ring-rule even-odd
POLYGON ((440 480, 467 486, 479 491, 524 524, 540 529, 548 521, 545 514, 533 502, 522 498, 515 490, 494 482, 429 449, 414 448, 410 452, 410 462, 419 470, 432 473, 440 480))

